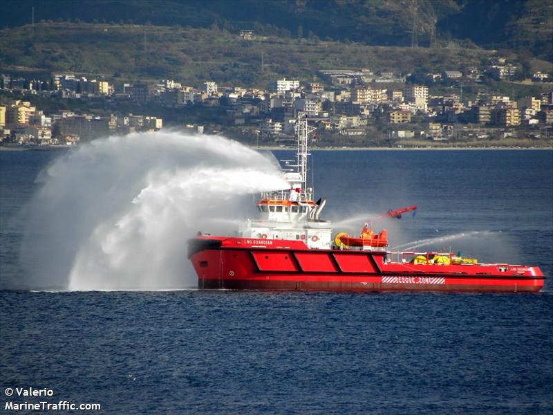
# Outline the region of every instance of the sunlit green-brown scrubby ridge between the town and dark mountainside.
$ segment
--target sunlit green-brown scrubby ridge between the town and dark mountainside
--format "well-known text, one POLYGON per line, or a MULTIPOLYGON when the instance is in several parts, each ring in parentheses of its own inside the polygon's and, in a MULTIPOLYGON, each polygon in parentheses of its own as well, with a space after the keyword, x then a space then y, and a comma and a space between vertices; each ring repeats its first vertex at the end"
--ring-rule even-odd
POLYGON ((120 24, 35 24, 0 30, 0 69, 71 71, 124 80, 267 86, 276 77, 310 80, 319 69, 441 71, 477 65, 479 49, 402 48, 259 37, 219 29, 120 24), (261 53, 265 65, 261 70, 261 53))

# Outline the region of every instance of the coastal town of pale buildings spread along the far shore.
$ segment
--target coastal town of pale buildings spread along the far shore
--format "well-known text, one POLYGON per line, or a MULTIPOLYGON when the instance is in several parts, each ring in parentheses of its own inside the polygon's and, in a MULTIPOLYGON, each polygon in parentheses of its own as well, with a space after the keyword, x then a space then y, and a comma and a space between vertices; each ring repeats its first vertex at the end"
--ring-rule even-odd
MULTIPOLYGON (((453 146, 507 138, 530 139, 539 146, 553 138, 552 91, 518 100, 487 88, 463 96, 464 85, 482 84, 486 78, 510 80, 516 70, 505 59, 496 59, 485 68, 427 73, 417 83, 411 74, 332 69, 320 70, 317 82, 284 78, 274 80, 270 89, 209 81, 198 86, 176 80, 113 84, 73 73, 53 73, 49 80, 2 74, 0 144, 75 145, 111 134, 174 127, 285 147, 294 142, 297 116, 304 114, 317 127, 314 145, 321 147, 453 146), (448 93, 432 93, 433 85, 448 93), (156 116, 73 108, 48 112, 32 104, 36 98, 154 108, 156 116), (196 122, 175 117, 191 108, 200 114, 196 122)), ((549 84, 552 78, 534 73, 528 81, 549 84)))

